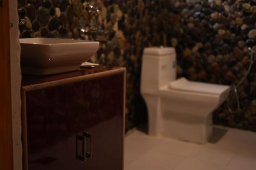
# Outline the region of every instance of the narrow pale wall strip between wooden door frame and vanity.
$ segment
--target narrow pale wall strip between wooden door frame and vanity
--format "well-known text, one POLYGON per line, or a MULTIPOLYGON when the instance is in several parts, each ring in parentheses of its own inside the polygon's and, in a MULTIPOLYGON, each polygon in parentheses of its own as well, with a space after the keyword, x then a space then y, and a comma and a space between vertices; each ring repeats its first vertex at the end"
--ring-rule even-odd
POLYGON ((11 47, 11 99, 12 99, 12 134, 13 134, 13 167, 15 170, 22 169, 22 126, 21 126, 21 102, 20 83, 22 75, 20 73, 20 46, 18 42, 18 13, 17 1, 9 1, 9 17, 13 27, 10 28, 11 47))

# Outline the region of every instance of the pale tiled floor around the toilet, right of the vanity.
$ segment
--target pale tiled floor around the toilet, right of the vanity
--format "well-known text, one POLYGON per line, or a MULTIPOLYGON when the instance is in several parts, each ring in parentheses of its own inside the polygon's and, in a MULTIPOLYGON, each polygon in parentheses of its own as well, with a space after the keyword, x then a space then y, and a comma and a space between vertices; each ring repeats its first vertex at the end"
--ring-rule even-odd
POLYGON ((255 170, 256 133, 214 127, 205 145, 148 136, 139 130, 126 134, 124 170, 255 170))

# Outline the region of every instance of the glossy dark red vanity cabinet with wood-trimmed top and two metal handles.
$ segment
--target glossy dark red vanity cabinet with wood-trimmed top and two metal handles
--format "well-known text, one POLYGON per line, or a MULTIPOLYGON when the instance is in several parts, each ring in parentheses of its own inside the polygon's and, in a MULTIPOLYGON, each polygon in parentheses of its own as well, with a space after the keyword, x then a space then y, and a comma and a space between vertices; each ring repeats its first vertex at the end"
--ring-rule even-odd
POLYGON ((125 68, 23 75, 24 169, 123 169, 125 68))

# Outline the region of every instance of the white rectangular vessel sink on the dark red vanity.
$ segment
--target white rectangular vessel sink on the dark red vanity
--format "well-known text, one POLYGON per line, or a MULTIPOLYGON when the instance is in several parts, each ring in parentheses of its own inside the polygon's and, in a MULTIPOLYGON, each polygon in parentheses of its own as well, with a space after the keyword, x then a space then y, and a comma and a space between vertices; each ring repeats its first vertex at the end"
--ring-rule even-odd
POLYGON ((78 70, 98 50, 98 41, 60 38, 22 38, 20 63, 23 74, 51 75, 78 70))

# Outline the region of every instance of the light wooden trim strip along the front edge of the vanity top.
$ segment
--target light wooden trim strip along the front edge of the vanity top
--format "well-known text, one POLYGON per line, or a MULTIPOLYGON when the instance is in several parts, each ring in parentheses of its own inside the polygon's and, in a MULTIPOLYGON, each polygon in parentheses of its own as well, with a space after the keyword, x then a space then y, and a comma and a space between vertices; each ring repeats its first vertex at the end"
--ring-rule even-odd
POLYGON ((77 77, 66 78, 66 79, 61 79, 61 80, 54 80, 54 81, 38 83, 38 84, 33 84, 33 85, 26 85, 26 86, 22 87, 22 90, 31 91, 31 90, 37 90, 37 89, 46 88, 46 87, 58 86, 61 84, 69 84, 69 83, 78 82, 81 80, 91 80, 91 79, 105 77, 105 76, 109 76, 109 75, 120 74, 121 72, 124 72, 125 70, 126 70, 125 67, 120 67, 120 68, 116 68, 113 70, 97 72, 97 73, 90 74, 90 75, 77 76, 77 77))

